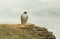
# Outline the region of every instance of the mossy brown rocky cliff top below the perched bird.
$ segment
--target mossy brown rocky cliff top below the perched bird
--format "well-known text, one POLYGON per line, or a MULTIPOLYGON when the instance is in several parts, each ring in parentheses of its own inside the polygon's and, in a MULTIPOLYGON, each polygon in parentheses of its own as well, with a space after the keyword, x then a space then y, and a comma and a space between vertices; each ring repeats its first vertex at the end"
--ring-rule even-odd
POLYGON ((53 32, 49 32, 44 27, 38 27, 34 24, 26 25, 19 29, 0 25, 0 39, 56 39, 53 32))

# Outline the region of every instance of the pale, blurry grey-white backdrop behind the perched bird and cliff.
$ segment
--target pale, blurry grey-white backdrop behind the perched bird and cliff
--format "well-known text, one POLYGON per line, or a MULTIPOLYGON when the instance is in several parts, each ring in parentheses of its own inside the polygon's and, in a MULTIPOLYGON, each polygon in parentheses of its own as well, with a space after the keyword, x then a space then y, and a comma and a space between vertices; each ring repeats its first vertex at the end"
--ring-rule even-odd
POLYGON ((0 24, 18 24, 27 11, 28 23, 46 27, 60 37, 60 0, 0 0, 0 24))

